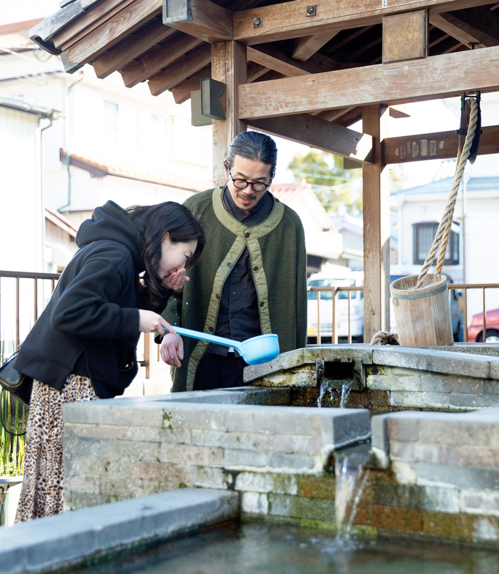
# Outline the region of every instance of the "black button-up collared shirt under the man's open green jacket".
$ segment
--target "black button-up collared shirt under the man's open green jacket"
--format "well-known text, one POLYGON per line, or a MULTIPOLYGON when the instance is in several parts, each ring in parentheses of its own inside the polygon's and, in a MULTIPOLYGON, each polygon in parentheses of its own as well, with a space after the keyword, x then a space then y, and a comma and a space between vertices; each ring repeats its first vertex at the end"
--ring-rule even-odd
MULTIPOLYGON (((246 215, 244 210, 235 205, 226 186, 223 190, 223 204, 234 219, 245 224, 246 227, 253 227, 268 218, 274 200, 269 193, 265 193, 253 210, 246 215)), ((246 247, 223 285, 215 335, 244 341, 261 333, 257 292, 253 281, 250 254, 246 247)), ((227 355, 228 348, 211 343, 208 352, 227 355)))

